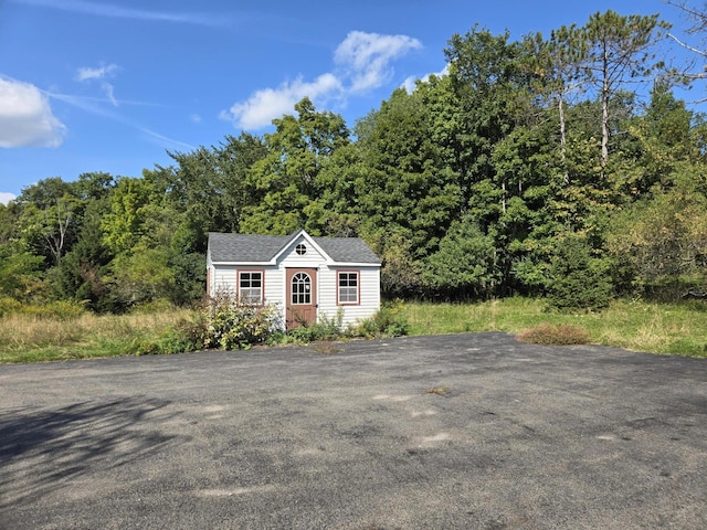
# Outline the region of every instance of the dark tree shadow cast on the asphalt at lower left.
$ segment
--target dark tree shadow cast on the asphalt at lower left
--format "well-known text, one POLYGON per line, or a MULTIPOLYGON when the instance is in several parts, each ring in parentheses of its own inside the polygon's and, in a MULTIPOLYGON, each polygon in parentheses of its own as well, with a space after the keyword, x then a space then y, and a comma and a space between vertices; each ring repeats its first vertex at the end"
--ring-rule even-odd
POLYGON ((156 428, 175 415, 168 404, 127 398, 0 414, 0 513, 160 452, 176 438, 156 428))

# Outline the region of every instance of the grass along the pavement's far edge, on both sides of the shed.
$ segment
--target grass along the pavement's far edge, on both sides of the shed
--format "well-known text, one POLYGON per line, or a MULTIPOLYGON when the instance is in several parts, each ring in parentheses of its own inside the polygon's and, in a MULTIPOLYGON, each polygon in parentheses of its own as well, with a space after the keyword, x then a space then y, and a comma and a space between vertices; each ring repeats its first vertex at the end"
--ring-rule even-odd
MULTIPOLYGON (((61 308, 60 308, 61 309, 61 308)), ((636 351, 707 358, 707 303, 648 304, 616 300, 595 314, 546 310, 542 300, 508 298, 478 304, 402 304, 409 335, 505 331, 574 326, 589 342, 636 351)), ((96 316, 82 311, 12 312, 0 317, 0 363, 131 354, 136 344, 169 341, 188 310, 96 316)), ((328 347, 327 347, 328 348, 328 347)), ((162 349, 161 351, 169 351, 162 349)))

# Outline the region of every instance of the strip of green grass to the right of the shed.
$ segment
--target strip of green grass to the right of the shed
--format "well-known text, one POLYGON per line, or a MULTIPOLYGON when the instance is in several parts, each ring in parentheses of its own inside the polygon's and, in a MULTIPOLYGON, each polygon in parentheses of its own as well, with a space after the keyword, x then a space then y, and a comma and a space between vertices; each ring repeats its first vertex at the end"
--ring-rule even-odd
POLYGON ((410 335, 505 331, 570 325, 590 342, 652 353, 707 358, 707 303, 651 304, 615 300, 601 312, 548 311, 542 300, 506 298, 478 304, 405 304, 410 335))

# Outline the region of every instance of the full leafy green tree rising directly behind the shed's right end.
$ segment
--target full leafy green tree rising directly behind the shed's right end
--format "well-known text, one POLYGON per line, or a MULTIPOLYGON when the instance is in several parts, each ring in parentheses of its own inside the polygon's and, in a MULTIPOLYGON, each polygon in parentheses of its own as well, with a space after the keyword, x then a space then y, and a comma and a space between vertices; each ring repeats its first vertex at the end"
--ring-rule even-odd
POLYGON ((462 201, 456 174, 430 137, 430 121, 421 95, 401 88, 357 128, 361 233, 403 235, 415 261, 436 251, 462 201))

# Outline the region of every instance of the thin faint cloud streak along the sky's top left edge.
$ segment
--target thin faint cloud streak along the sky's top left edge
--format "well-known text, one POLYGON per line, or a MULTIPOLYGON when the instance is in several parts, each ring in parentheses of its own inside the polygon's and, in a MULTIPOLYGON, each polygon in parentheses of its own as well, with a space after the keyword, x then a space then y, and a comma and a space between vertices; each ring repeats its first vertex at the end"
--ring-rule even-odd
POLYGON ((110 3, 88 2, 85 0, 10 0, 25 6, 70 11, 74 13, 92 14, 114 19, 133 19, 157 22, 173 22, 197 25, 224 25, 228 18, 222 14, 203 12, 171 12, 150 11, 145 9, 125 8, 110 3))

